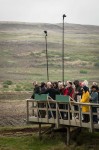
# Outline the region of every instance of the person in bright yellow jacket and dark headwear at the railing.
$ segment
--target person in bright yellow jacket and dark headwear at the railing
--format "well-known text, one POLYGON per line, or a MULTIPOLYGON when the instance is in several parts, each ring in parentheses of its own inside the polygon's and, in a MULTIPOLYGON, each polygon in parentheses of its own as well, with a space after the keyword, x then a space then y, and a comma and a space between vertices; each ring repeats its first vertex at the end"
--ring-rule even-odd
MULTIPOLYGON (((83 94, 82 94, 82 98, 80 100, 81 103, 89 103, 89 98, 90 98, 90 94, 89 94, 89 89, 87 86, 83 87, 83 94)), ((82 105, 82 112, 86 113, 89 112, 89 106, 87 105, 82 105)), ((83 122, 89 122, 89 114, 83 114, 83 122)))

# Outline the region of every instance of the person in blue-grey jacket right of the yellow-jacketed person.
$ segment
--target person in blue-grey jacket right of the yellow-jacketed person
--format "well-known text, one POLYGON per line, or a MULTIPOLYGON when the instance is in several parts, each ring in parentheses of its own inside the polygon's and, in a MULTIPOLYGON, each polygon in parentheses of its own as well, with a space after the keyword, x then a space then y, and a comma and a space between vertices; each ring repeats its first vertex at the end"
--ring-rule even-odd
MULTIPOLYGON (((97 92, 97 86, 93 85, 91 87, 91 98, 90 98, 90 102, 91 103, 98 103, 98 92, 97 92)), ((92 112, 93 113, 97 113, 97 107, 92 107, 92 112)), ((93 115, 93 122, 94 123, 98 123, 98 117, 97 115, 93 115)))

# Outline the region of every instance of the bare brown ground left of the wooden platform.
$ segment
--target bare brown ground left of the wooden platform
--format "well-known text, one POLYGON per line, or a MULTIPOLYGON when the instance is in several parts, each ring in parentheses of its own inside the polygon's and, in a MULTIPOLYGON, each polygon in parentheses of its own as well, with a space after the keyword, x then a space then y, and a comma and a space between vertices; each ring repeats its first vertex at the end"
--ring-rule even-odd
POLYGON ((0 100, 0 126, 26 125, 25 100, 0 100))

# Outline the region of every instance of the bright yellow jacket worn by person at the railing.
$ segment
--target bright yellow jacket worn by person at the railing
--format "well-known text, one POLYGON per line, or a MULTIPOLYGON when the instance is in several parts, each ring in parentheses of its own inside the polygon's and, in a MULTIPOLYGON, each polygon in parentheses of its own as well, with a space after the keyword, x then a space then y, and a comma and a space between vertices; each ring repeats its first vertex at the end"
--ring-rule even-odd
MULTIPOLYGON (((90 94, 87 91, 86 93, 83 92, 82 99, 80 100, 81 103, 89 103, 90 94)), ((89 106, 83 105, 82 106, 82 112, 88 112, 89 106)))

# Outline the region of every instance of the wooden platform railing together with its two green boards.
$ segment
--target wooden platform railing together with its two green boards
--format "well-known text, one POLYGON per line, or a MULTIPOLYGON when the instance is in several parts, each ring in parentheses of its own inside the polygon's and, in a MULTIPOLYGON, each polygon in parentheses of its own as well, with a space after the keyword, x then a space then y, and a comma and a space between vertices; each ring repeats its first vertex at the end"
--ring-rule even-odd
POLYGON ((85 127, 92 132, 99 129, 99 124, 93 122, 93 115, 99 116, 98 109, 99 104, 75 102, 69 96, 56 95, 56 100, 52 100, 47 94, 36 94, 35 99, 27 99, 27 122, 55 124, 57 128, 60 125, 85 127), (89 112, 82 112, 82 106, 88 106, 89 112), (92 107, 97 108, 96 113, 92 107), (82 121, 83 114, 89 115, 89 122, 82 121))

